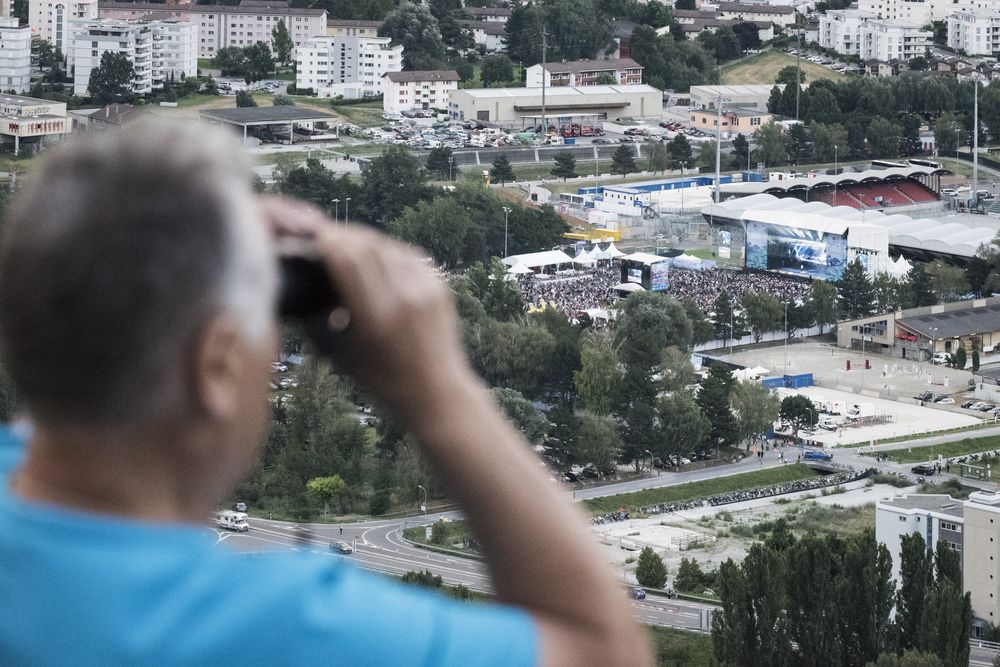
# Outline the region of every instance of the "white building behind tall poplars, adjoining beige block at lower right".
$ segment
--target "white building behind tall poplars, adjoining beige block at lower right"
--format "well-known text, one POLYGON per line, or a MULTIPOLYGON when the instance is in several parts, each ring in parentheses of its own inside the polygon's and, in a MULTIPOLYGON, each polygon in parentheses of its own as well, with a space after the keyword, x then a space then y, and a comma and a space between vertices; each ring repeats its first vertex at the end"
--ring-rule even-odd
POLYGON ((931 549, 936 549, 938 541, 943 540, 961 554, 967 551, 963 547, 964 521, 962 501, 945 494, 907 494, 876 502, 875 539, 892 555, 893 581, 899 584, 904 535, 919 533, 931 549))

